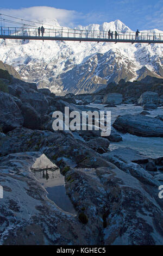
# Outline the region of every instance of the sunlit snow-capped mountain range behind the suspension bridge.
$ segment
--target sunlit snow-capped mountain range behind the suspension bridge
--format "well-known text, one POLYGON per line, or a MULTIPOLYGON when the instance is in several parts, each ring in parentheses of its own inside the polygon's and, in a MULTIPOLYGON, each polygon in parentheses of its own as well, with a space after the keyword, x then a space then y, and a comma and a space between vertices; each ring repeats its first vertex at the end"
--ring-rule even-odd
MULTIPOLYGON (((57 20, 51 23, 59 26, 57 20)), ((76 29, 131 31, 120 20, 76 29)), ((14 66, 23 80, 54 93, 91 93, 121 78, 163 77, 162 44, 0 40, 0 46, 0 60, 14 66)))

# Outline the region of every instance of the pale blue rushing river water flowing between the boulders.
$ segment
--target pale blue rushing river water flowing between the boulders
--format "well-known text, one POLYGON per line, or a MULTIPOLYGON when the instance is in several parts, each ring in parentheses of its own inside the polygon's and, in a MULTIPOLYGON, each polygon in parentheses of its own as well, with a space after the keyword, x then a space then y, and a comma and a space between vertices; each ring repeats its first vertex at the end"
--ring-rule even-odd
MULTIPOLYGON (((133 104, 122 104, 117 107, 104 108, 105 105, 101 104, 91 104, 87 105, 90 107, 98 107, 101 110, 111 111, 111 123, 114 123, 118 115, 124 114, 139 114, 143 111, 141 106, 134 106, 133 104)), ((154 109, 153 111, 148 111, 150 113, 149 117, 156 117, 157 115, 163 115, 163 108, 154 109)), ((146 155, 151 158, 157 158, 163 156, 163 138, 159 137, 139 137, 135 135, 130 135, 129 133, 123 134, 118 132, 122 138, 122 142, 111 142, 110 150, 121 148, 131 148, 139 151, 141 154, 146 155)))

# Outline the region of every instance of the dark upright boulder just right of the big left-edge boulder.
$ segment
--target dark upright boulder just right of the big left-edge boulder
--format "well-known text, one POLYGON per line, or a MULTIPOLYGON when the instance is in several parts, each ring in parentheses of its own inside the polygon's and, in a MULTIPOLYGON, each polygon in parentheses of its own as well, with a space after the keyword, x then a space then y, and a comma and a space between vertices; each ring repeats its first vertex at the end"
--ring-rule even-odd
POLYGON ((40 114, 29 104, 23 103, 21 112, 24 118, 23 126, 29 129, 41 129, 40 114))

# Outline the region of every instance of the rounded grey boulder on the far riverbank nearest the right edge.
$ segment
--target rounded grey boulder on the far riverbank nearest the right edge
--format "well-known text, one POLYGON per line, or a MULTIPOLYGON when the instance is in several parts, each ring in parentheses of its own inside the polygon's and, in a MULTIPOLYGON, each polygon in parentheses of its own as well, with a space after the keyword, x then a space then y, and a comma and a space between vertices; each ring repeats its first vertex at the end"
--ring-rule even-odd
POLYGON ((145 92, 140 96, 137 103, 139 105, 144 105, 144 104, 156 104, 157 105, 159 103, 158 93, 145 92))

